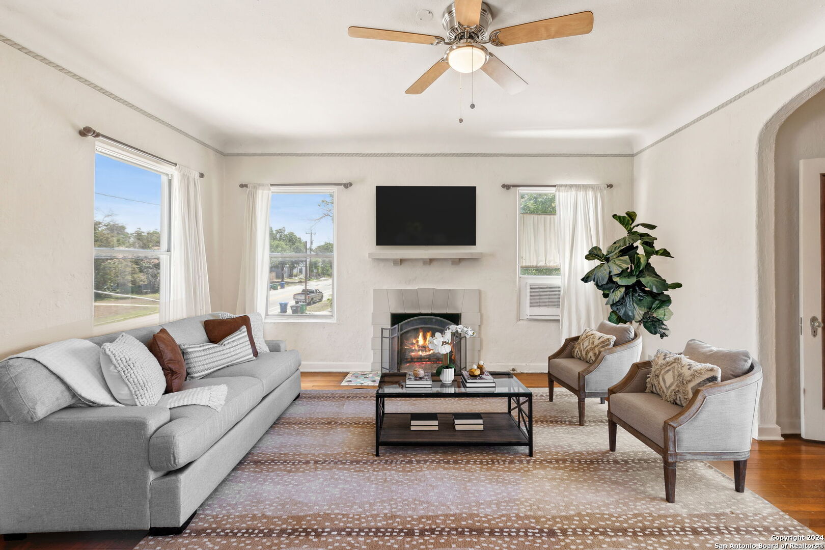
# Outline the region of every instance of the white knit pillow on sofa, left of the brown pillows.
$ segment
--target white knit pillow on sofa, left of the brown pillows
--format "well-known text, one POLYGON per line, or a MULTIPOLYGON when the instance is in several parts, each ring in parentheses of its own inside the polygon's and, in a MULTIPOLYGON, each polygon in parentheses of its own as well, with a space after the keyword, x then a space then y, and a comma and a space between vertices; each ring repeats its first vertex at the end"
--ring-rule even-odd
POLYGON ((103 378, 124 405, 153 407, 166 389, 163 369, 143 343, 125 332, 101 346, 103 378))

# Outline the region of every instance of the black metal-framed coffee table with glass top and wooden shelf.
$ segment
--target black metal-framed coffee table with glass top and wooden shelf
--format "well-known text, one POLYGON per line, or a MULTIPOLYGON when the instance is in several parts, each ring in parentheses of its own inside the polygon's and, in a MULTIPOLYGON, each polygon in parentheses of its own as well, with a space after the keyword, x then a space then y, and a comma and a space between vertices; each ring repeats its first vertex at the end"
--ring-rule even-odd
MULTIPOLYGON (((431 388, 410 389, 405 387, 407 373, 381 374, 375 392, 375 456, 380 456, 382 445, 526 447, 527 454, 533 456, 533 393, 512 374, 490 374, 496 379, 495 388, 466 388, 459 377, 444 384, 433 375, 431 388), (482 412, 483 430, 455 430, 450 412, 438 413, 438 430, 410 430, 409 412, 386 410, 388 399, 456 397, 507 397, 507 412, 482 412)), ((416 412, 432 411, 422 403, 416 412)))

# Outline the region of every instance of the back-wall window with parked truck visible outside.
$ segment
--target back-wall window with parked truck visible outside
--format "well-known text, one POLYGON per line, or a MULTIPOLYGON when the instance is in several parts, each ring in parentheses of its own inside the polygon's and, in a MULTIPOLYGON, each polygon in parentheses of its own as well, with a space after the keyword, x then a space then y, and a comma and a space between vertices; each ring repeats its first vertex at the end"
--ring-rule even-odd
POLYGON ((267 317, 333 320, 335 190, 272 192, 267 317))

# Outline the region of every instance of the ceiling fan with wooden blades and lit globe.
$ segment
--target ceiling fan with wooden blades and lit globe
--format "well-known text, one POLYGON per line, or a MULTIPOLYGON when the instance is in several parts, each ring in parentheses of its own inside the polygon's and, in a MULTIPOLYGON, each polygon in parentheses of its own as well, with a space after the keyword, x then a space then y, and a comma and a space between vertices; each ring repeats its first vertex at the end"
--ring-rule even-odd
POLYGON ((446 39, 441 36, 370 29, 364 26, 351 26, 349 35, 354 38, 449 46, 441 59, 407 89, 408 94, 423 92, 448 68, 453 68, 459 73, 473 73, 480 68, 499 86, 514 94, 524 90, 527 82, 489 52, 484 47, 485 44, 509 46, 564 36, 586 35, 593 29, 592 12, 572 13, 488 32, 492 21, 492 12, 486 2, 455 0, 445 10, 441 21, 447 32, 446 39))

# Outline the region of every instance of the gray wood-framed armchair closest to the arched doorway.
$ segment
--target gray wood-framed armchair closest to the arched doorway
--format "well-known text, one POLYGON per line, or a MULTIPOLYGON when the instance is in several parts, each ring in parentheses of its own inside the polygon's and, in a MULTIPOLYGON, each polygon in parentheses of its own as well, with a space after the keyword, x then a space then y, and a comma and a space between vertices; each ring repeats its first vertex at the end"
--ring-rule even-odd
POLYGON ((733 460, 733 485, 736 491, 744 492, 761 366, 747 351, 717 350, 694 340, 682 354, 718 366, 721 382, 697 389, 691 401, 680 407, 656 393, 645 393, 651 362, 634 364, 627 376, 610 388, 610 450, 616 449, 616 425, 620 425, 660 454, 668 502, 676 501, 676 463, 682 460, 733 460))

